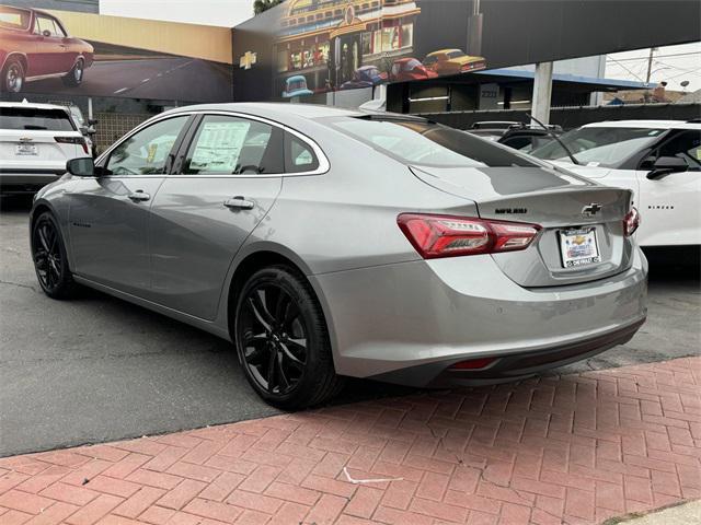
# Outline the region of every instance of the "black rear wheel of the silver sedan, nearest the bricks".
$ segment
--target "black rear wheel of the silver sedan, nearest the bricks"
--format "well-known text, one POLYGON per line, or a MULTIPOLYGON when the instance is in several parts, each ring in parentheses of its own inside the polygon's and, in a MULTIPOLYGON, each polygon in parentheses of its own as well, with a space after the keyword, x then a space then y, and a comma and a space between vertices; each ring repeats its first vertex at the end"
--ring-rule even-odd
POLYGON ((319 405, 342 387, 321 306, 297 271, 273 266, 243 284, 234 317, 239 361, 255 392, 283 409, 319 405))

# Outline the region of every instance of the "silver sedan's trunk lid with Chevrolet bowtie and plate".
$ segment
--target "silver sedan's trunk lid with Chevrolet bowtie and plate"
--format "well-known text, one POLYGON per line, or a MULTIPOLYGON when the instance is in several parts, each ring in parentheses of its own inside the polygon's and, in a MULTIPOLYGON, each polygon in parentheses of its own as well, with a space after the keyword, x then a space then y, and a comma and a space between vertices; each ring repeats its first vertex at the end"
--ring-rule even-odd
POLYGON ((522 287, 601 279, 630 267, 623 233, 632 194, 540 167, 412 167, 423 182, 476 203, 481 219, 538 224, 525 250, 493 254, 522 287))

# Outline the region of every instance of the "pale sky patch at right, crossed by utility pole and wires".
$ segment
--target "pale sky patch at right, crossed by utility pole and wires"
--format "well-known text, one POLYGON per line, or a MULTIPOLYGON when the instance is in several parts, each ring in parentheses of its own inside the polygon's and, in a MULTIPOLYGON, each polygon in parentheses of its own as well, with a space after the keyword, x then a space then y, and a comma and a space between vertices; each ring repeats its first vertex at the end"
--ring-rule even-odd
MULTIPOLYGON (((645 82, 650 49, 609 55, 606 78, 645 82)), ((683 91, 681 82, 689 81, 687 92, 701 90, 701 42, 656 48, 653 54, 652 82, 668 82, 667 90, 683 91)))

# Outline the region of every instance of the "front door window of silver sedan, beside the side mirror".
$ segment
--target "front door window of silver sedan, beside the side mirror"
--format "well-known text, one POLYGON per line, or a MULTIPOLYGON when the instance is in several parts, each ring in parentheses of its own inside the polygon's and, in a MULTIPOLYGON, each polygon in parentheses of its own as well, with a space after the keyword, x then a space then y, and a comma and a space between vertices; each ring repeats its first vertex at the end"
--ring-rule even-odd
POLYGON ((187 116, 169 118, 138 131, 119 143, 106 164, 108 175, 161 175, 187 116))

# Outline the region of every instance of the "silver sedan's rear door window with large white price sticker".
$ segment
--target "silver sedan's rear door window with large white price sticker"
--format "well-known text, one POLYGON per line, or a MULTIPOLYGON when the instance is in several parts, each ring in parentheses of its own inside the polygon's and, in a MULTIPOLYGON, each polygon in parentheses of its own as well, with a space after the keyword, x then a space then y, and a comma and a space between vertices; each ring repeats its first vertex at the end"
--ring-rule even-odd
POLYGON ((189 175, 278 174, 283 131, 257 120, 207 115, 187 151, 189 175))

